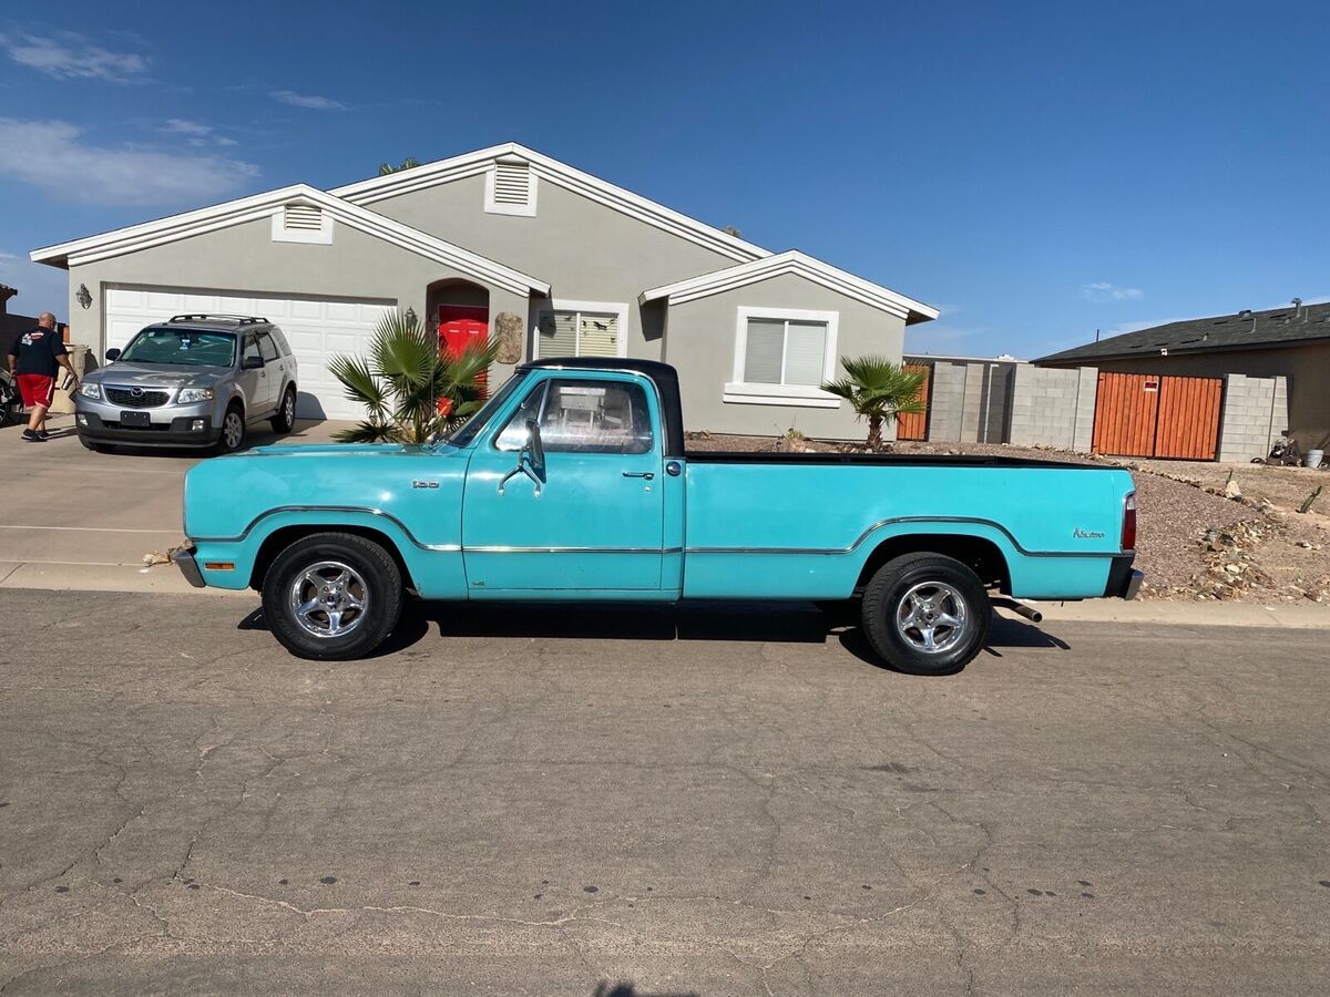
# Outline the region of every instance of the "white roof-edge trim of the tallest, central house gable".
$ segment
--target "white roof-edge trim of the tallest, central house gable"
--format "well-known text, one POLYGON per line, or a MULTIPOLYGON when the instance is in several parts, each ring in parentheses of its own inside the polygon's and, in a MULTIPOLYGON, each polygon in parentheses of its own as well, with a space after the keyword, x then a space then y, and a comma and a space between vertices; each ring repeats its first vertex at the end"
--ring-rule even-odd
POLYGON ((575 194, 581 194, 591 201, 612 207, 621 214, 626 214, 656 229, 662 229, 730 259, 749 261, 771 255, 770 250, 754 246, 751 242, 745 242, 737 235, 730 235, 696 218, 673 211, 664 205, 609 183, 600 177, 593 177, 589 173, 575 169, 565 162, 552 160, 517 142, 504 142, 488 149, 477 149, 473 153, 454 156, 448 160, 412 166, 408 170, 398 170, 384 177, 371 177, 356 183, 334 187, 329 193, 356 205, 371 205, 375 201, 398 197, 399 194, 410 194, 440 183, 450 183, 463 177, 483 174, 499 157, 525 160, 541 181, 572 190, 575 194))

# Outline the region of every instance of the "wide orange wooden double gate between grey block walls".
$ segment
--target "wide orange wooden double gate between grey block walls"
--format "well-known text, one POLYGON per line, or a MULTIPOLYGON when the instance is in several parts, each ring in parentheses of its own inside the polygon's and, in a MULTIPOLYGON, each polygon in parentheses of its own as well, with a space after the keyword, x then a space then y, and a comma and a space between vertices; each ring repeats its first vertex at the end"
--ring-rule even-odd
POLYGON ((1095 397, 1095 452, 1214 460, 1222 399, 1222 378, 1101 371, 1095 397))

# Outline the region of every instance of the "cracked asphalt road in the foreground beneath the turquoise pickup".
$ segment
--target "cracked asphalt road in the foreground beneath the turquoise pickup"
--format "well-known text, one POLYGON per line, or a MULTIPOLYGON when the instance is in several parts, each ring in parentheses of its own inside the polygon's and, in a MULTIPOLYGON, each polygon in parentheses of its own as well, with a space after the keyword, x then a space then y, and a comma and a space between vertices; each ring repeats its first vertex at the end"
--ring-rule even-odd
POLYGON ((7 996, 1325 988, 1323 633, 249 609, 0 592, 7 996))

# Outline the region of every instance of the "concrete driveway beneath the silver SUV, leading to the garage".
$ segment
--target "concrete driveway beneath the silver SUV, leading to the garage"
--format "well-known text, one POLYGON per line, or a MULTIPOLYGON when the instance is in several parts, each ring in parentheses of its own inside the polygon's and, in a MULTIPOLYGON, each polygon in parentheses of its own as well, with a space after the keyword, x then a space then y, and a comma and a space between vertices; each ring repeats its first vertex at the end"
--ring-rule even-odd
MULTIPOLYGON (((250 427, 249 445, 326 443, 347 425, 301 421, 277 436, 250 427)), ((47 443, 0 428, 0 586, 180 590, 172 569, 142 572, 144 554, 180 544, 185 472, 196 451, 84 449, 73 416, 49 421, 47 443)))

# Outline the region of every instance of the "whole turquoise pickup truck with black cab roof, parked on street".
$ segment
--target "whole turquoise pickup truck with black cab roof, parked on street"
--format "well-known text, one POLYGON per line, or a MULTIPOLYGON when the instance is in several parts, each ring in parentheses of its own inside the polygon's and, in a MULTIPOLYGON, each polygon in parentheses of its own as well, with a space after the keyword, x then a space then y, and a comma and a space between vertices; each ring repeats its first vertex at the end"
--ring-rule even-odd
POLYGON ((408 593, 859 600, 887 663, 950 674, 984 646, 990 592, 1132 598, 1141 580, 1124 471, 688 452, 674 368, 646 360, 525 364, 428 445, 205 461, 185 480, 185 532, 193 585, 261 592, 277 639, 317 659, 374 651, 408 593))

